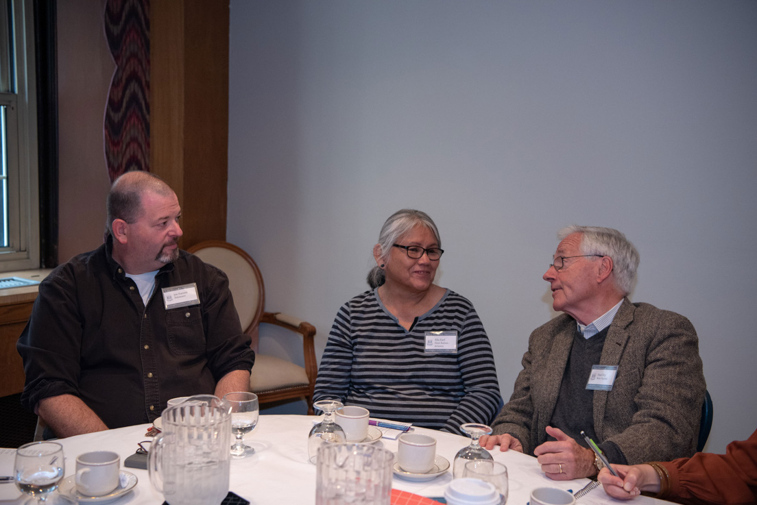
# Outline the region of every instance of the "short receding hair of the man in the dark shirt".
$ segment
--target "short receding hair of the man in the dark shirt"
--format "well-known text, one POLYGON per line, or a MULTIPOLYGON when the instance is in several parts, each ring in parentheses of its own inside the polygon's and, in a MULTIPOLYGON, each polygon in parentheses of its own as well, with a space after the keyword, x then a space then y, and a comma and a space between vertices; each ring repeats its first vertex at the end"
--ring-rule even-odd
POLYGON ((107 194, 107 233, 113 234, 113 222, 116 219, 123 219, 129 224, 139 219, 142 195, 147 191, 163 197, 173 194, 173 190, 163 179, 150 172, 126 172, 113 182, 111 191, 107 194))

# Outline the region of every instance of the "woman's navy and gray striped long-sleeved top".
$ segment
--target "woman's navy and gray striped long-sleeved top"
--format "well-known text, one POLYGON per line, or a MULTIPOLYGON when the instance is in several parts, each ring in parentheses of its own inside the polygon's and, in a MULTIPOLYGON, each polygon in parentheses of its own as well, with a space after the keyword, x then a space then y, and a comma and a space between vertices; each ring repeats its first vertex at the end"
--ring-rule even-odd
POLYGON ((447 290, 408 331, 369 290, 336 315, 313 395, 322 398, 459 433, 461 423, 491 423, 500 388, 491 344, 468 299, 447 290), (456 353, 425 352, 425 333, 440 330, 456 331, 456 353))

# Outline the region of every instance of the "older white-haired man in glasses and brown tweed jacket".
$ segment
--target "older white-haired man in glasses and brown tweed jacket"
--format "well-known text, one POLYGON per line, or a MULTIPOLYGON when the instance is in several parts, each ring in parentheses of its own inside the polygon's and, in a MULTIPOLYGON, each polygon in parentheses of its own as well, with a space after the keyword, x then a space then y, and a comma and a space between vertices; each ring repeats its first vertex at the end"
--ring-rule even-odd
POLYGON ((639 255, 619 231, 572 226, 559 238, 544 280, 565 314, 531 333, 515 390, 482 445, 534 454, 552 479, 601 468, 581 430, 611 463, 691 456, 706 388, 692 324, 626 298, 639 255))

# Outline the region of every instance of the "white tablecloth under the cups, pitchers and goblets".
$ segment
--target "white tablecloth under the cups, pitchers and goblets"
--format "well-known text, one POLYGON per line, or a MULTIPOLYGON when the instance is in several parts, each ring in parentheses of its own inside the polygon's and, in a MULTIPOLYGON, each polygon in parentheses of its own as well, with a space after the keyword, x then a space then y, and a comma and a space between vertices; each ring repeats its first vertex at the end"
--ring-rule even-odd
MULTIPOLYGON (((313 426, 313 417, 297 415, 263 415, 257 427, 245 435, 245 443, 255 448, 256 453, 245 459, 231 461, 230 490, 253 505, 308 505, 315 503, 316 466, 307 462, 307 434, 313 426)), ((145 433, 150 425, 128 426, 106 432, 63 438, 59 442, 64 447, 66 476, 73 476, 76 470, 76 456, 87 451, 115 451, 121 456, 121 464, 126 457, 134 454, 137 442, 148 440, 145 433)), ((441 497, 452 480, 451 466, 457 451, 470 444, 470 438, 429 429, 416 428, 416 432, 431 435, 437 440, 437 454, 450 461, 450 471, 430 482, 408 482, 394 477, 392 487, 410 491, 427 497, 441 497)), ((232 437, 233 439, 233 437, 232 437)), ((229 440, 229 446, 232 444, 229 440)), ((388 451, 397 451, 397 441, 382 438, 376 442, 388 451)), ((556 482, 547 479, 540 470, 536 458, 515 451, 491 451, 494 459, 507 466, 509 475, 509 505, 526 505, 531 489, 540 486, 578 491, 589 480, 576 479, 556 482)), ((139 479, 136 488, 118 500, 114 505, 150 504, 160 505, 164 497, 150 484, 147 470, 124 468, 139 479)), ((55 504, 61 500, 54 500, 55 504)), ((637 498, 631 503, 650 503, 649 498, 637 498)), ((7 502, 5 502, 7 503, 7 502)), ((602 489, 592 491, 579 503, 621 503, 609 499, 602 489)), ((625 502, 628 503, 628 502, 625 502)), ((665 502, 661 502, 665 503, 665 502)))

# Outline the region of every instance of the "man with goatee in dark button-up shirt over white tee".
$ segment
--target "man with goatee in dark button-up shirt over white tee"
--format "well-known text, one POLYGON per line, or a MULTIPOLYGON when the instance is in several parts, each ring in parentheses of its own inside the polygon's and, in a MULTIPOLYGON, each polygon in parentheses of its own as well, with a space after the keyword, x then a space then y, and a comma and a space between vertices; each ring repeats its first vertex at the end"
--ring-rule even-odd
POLYGON ((149 423, 170 398, 249 389, 229 280, 179 250, 181 208, 148 172, 117 178, 105 243, 55 268, 17 349, 21 401, 58 437, 149 423))

